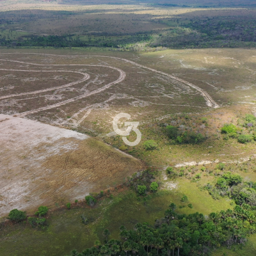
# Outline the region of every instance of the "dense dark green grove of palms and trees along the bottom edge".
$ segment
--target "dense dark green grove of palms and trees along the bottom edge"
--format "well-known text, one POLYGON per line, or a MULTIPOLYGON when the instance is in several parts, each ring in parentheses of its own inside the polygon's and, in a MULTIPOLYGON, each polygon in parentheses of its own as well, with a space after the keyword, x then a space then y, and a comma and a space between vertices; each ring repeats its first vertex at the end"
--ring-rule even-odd
MULTIPOLYGON (((212 212, 209 218, 198 212, 194 214, 177 214, 175 205, 164 212, 164 218, 156 220, 154 227, 148 223, 137 223, 134 229, 120 227, 121 240, 111 239, 106 243, 88 248, 81 253, 85 255, 189 255, 202 253, 207 248, 220 247, 221 244, 244 244, 246 236, 255 232, 256 218, 250 206, 237 205, 234 210, 212 212), (250 221, 250 222, 249 222, 250 221), (204 249, 203 249, 204 248, 204 249)), ((108 237, 109 230, 104 230, 108 237)), ((78 255, 72 251, 71 255, 78 255)))

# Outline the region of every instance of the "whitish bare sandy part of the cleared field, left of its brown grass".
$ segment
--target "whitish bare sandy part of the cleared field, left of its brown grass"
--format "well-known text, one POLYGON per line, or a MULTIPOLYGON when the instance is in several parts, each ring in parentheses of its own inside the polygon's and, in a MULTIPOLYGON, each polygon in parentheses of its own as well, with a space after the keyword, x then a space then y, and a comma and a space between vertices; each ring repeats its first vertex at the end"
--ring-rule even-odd
POLYGON ((0 131, 0 216, 13 208, 26 209, 43 203, 40 197, 45 191, 35 193, 36 188, 31 186, 47 172, 42 163, 54 154, 75 150, 79 141, 89 138, 10 115, 0 115, 0 131))

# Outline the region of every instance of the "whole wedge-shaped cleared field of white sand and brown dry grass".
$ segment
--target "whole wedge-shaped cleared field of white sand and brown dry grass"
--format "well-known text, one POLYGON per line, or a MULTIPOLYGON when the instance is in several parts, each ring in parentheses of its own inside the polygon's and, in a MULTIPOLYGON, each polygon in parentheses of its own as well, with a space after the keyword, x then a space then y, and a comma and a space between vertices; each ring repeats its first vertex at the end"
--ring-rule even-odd
POLYGON ((134 157, 84 134, 0 115, 0 218, 81 200, 143 169, 134 157))

